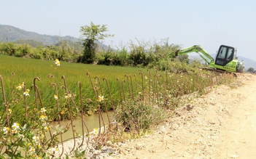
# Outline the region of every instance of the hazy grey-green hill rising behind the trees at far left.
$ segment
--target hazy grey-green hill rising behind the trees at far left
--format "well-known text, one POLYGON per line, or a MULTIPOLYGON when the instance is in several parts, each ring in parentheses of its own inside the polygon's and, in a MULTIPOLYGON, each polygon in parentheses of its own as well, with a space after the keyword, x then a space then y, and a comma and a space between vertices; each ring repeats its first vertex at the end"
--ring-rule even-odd
POLYGON ((79 38, 71 36, 48 36, 15 28, 10 25, 0 25, 0 41, 36 41, 44 45, 58 44, 59 41, 78 42, 79 38))

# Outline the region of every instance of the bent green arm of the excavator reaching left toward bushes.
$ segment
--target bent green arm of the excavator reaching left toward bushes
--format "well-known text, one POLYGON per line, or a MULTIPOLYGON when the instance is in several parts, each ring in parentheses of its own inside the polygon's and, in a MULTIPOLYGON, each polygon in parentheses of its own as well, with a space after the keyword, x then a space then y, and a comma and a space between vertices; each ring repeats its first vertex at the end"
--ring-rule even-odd
POLYGON ((210 54, 206 52, 200 45, 194 45, 191 47, 188 47, 186 49, 178 49, 177 52, 175 52, 175 56, 179 56, 181 54, 189 54, 190 52, 196 52, 199 54, 199 56, 206 62, 208 65, 210 62, 214 62, 214 58, 211 57, 210 54))

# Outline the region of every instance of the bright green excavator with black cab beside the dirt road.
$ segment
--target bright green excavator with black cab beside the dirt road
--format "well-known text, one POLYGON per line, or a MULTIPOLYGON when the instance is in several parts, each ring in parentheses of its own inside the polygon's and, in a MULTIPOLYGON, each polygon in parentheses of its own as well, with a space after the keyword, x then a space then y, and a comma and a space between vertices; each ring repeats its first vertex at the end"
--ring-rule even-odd
POLYGON ((243 73, 245 64, 243 61, 238 61, 236 57, 236 48, 232 46, 221 45, 217 52, 216 60, 206 52, 200 45, 179 49, 175 52, 175 56, 196 52, 209 65, 210 70, 220 70, 230 73, 243 73))

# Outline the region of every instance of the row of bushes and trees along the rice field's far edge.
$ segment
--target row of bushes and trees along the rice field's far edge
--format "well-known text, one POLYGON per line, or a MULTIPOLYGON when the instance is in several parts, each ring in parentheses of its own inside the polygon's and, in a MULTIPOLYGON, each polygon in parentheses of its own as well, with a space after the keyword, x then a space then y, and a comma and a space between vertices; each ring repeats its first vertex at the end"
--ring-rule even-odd
MULTIPOLYGON (((0 41, 0 54, 14 57, 26 57, 41 60, 61 60, 97 65, 119 65, 157 68, 164 70, 167 63, 173 60, 178 45, 168 44, 168 38, 159 43, 131 41, 128 46, 118 49, 102 49, 97 41, 113 35, 106 34, 106 25, 85 25, 80 28, 82 42, 59 41, 58 44, 44 46, 36 41, 0 41)), ((188 56, 179 60, 188 63, 188 56)))

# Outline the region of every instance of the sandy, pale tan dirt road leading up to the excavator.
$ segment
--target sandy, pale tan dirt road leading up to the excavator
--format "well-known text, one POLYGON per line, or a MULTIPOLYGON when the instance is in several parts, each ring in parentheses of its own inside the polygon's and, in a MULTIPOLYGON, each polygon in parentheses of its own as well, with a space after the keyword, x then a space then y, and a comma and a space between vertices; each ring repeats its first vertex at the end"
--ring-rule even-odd
POLYGON ((256 76, 239 75, 179 108, 154 134, 119 143, 109 158, 256 158, 255 92, 256 76))

